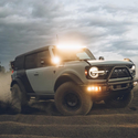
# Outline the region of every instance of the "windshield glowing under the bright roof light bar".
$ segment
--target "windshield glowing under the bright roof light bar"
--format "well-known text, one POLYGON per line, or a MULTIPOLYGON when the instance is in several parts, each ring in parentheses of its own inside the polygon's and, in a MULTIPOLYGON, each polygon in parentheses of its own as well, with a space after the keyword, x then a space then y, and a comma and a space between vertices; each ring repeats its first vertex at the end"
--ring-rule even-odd
POLYGON ((53 53, 63 61, 95 60, 94 55, 87 49, 74 51, 53 49, 53 53))

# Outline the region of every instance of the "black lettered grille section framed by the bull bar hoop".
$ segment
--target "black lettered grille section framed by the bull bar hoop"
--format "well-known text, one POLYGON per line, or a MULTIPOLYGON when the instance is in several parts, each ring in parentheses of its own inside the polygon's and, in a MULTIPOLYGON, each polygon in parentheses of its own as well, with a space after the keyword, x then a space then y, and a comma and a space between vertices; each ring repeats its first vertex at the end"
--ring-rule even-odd
POLYGON ((129 77, 130 73, 127 67, 116 67, 113 71, 113 74, 110 78, 123 78, 123 77, 129 77))

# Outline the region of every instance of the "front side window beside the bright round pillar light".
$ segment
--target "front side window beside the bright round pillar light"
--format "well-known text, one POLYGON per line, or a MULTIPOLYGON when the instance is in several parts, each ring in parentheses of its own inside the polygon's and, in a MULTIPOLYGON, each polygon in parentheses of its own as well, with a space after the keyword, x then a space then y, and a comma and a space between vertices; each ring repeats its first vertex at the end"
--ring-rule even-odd
POLYGON ((51 59, 49 50, 38 53, 38 67, 49 66, 51 59))

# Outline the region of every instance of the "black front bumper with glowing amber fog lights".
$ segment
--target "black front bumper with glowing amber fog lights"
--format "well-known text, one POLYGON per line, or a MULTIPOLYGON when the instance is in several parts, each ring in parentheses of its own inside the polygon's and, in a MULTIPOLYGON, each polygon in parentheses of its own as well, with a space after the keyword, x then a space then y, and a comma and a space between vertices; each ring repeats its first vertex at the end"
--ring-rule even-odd
POLYGON ((103 100, 109 96, 120 95, 130 92, 138 81, 116 81, 116 82, 93 82, 81 85, 81 88, 88 93, 93 100, 103 100))

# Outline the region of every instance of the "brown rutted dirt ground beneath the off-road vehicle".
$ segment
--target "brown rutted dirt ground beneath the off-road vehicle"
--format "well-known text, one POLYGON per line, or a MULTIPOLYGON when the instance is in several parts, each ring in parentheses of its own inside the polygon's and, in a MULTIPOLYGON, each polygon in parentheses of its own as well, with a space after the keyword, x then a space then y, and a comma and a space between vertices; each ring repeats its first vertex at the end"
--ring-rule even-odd
POLYGON ((1 107, 0 138, 138 138, 138 86, 132 103, 123 109, 95 104, 87 116, 62 116, 53 100, 31 102, 22 114, 1 107))

